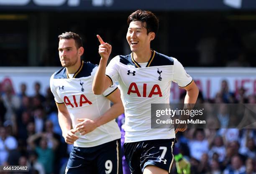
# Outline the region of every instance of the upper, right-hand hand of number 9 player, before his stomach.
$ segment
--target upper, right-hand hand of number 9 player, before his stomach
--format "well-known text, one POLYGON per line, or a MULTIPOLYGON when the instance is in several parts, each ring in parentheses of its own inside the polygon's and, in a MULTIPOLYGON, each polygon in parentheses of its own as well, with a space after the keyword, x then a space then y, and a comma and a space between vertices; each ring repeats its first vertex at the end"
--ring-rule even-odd
POLYGON ((77 131, 80 132, 80 135, 85 135, 93 131, 97 128, 97 124, 95 121, 90 119, 77 119, 77 121, 80 121, 81 123, 77 124, 77 131))

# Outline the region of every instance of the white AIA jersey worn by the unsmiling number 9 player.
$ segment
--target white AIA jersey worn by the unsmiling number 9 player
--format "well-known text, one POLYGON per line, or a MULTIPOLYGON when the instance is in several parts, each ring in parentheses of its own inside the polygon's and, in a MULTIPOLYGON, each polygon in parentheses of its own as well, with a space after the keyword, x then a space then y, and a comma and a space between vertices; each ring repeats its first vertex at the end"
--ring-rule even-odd
MULTIPOLYGON (((82 61, 78 71, 73 78, 69 78, 66 68, 55 72, 51 76, 50 86, 56 103, 65 103, 72 120, 72 126, 76 126, 77 119, 96 119, 102 116, 110 108, 110 101, 106 96, 113 93, 117 86, 110 86, 102 95, 95 95, 92 92, 92 81, 95 76, 97 66, 82 61)), ((100 144, 120 139, 120 129, 115 120, 108 122, 94 131, 80 135, 74 142, 77 147, 92 147, 100 144)))

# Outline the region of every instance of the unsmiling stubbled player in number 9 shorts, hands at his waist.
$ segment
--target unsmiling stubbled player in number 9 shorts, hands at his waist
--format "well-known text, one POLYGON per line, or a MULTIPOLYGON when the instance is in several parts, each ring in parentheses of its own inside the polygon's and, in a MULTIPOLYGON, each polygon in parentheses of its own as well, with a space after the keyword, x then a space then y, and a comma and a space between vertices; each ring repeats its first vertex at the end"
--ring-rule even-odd
POLYGON ((82 61, 83 53, 79 35, 59 35, 64 68, 51 76, 50 85, 62 135, 67 144, 74 144, 66 174, 122 174, 120 129, 114 120, 123 113, 120 91, 111 85, 103 95, 92 93, 97 66, 82 61))

